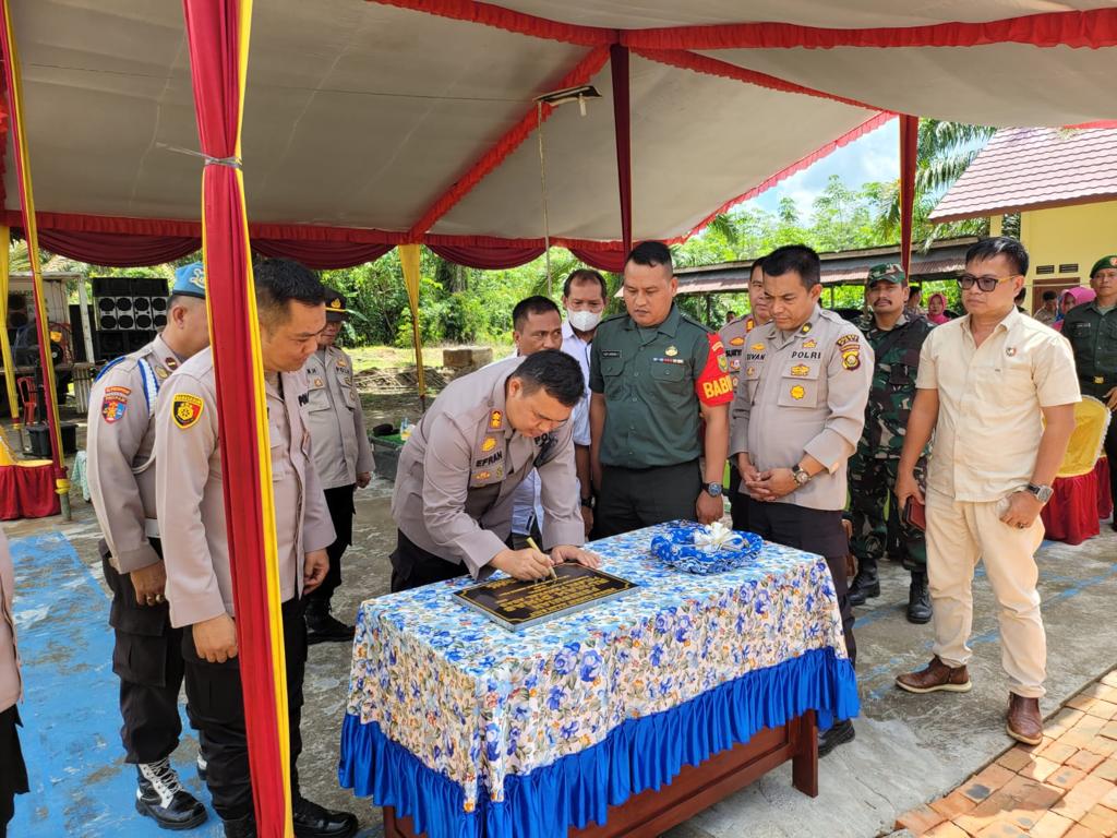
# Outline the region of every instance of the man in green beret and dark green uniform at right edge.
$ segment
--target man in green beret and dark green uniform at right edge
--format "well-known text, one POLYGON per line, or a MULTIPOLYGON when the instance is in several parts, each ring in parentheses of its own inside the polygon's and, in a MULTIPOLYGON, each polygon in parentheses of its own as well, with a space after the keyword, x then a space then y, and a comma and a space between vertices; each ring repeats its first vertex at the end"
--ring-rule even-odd
MULTIPOLYGON (((1117 410, 1117 255, 1102 256, 1090 269, 1098 296, 1067 312, 1062 335, 1070 341, 1082 393, 1117 410)), ((1117 419, 1110 419, 1105 441, 1109 463, 1117 463, 1117 419)), ((1109 494, 1117 499, 1117 468, 1109 468, 1109 494)), ((1113 528, 1117 530, 1117 518, 1113 528)))

